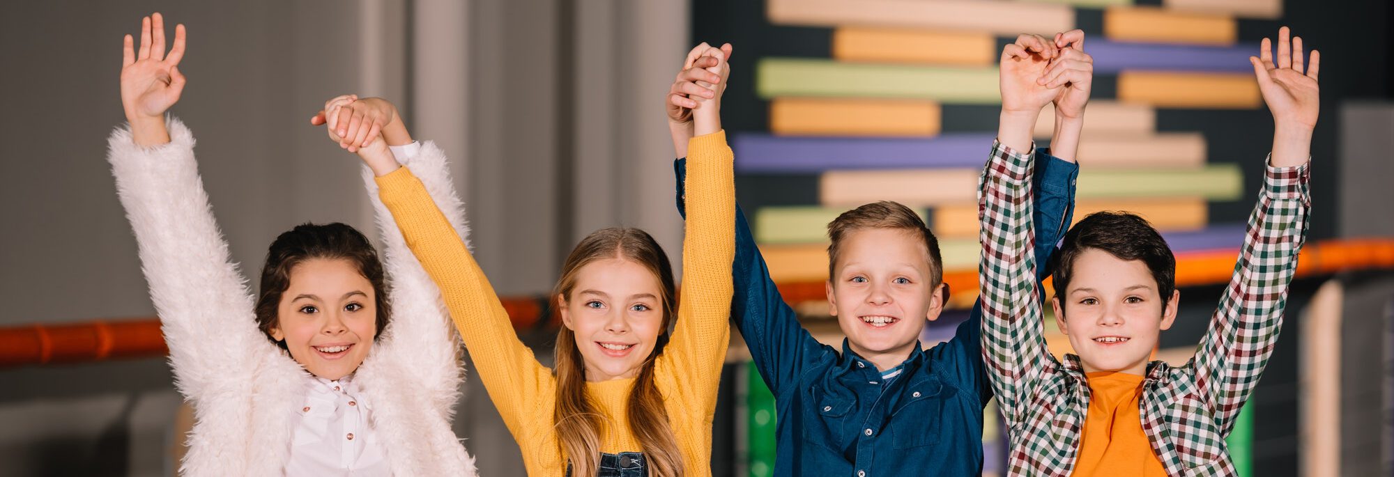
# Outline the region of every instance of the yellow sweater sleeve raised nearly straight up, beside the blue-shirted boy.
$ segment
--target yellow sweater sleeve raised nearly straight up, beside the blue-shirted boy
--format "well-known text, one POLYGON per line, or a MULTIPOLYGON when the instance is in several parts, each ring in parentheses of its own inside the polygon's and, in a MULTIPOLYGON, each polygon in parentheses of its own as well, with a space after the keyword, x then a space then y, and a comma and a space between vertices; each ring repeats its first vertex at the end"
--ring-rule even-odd
MULTIPOLYGON (((730 262, 736 258, 736 183, 726 132, 687 145, 687 229, 677 324, 655 370, 683 407, 710 423, 730 342, 730 262)), ((672 409, 672 407, 669 407, 672 409)), ((711 434, 711 430, 690 430, 711 434)))

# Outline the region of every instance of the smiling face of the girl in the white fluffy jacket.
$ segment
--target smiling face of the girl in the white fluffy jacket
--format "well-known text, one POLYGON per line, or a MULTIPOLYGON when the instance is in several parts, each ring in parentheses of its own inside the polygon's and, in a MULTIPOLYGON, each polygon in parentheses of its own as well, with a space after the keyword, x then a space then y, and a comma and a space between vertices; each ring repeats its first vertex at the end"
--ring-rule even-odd
POLYGON ((325 379, 358 370, 378 332, 372 283, 347 259, 311 258, 291 268, 276 311, 270 336, 325 379))

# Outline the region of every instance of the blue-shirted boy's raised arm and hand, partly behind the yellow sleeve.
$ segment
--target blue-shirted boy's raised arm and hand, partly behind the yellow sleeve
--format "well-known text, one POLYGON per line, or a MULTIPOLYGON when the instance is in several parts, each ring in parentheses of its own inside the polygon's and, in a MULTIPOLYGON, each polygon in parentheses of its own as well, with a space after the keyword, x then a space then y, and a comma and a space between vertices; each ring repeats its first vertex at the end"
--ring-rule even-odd
MULTIPOLYGON (((668 92, 668 127, 673 135, 673 149, 677 158, 687 155, 687 142, 693 138, 693 107, 696 99, 707 98, 711 91, 703 85, 719 84, 721 77, 707 68, 717 66, 714 56, 703 56, 711 46, 697 45, 677 73, 668 92), (696 98, 696 99, 694 99, 696 98)), ((729 45, 721 47, 730 59, 729 45)), ((677 213, 686 218, 687 159, 673 162, 677 184, 677 213)), ((765 385, 778 396, 785 384, 793 382, 803 370, 803 363, 824 349, 799 324, 799 315, 785 303, 779 287, 769 278, 769 268, 760 255, 756 237, 750 232, 744 212, 736 206, 736 259, 732 264, 730 319, 740 331, 751 360, 760 370, 765 385)))

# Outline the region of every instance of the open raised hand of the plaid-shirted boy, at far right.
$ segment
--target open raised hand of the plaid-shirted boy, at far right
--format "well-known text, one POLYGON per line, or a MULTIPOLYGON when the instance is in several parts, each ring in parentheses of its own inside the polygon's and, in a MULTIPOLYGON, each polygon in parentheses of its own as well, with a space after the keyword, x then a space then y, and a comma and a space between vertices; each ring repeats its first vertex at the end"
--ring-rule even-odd
POLYGON ((1278 29, 1278 57, 1273 61, 1273 45, 1267 38, 1259 46, 1257 57, 1250 56, 1259 92, 1273 113, 1273 166, 1302 165, 1310 156, 1312 130, 1320 113, 1317 70, 1322 54, 1312 50, 1312 60, 1303 71, 1302 38, 1288 40, 1287 26, 1278 29))

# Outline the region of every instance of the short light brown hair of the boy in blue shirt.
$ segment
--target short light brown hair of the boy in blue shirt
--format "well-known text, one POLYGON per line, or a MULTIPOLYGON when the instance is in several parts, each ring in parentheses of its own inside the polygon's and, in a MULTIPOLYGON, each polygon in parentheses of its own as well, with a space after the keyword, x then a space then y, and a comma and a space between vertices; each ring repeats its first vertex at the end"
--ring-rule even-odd
POLYGON ((836 279, 838 276, 838 255, 842 251, 842 240, 848 234, 861 229, 905 230, 916 238, 923 238, 924 250, 930 254, 930 287, 933 289, 944 282, 944 259, 940 257, 940 238, 934 237, 934 232, 930 232, 930 227, 924 226, 920 215, 892 201, 861 205, 842 212, 842 215, 828 223, 828 238, 832 240, 828 245, 829 279, 836 279))

